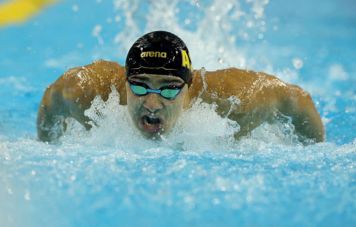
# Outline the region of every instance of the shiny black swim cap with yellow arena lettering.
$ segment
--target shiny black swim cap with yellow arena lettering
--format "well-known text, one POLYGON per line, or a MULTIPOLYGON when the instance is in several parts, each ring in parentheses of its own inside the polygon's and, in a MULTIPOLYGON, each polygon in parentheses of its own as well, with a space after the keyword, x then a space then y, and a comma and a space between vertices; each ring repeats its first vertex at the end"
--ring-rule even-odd
POLYGON ((193 67, 187 46, 178 36, 166 31, 143 35, 133 43, 125 63, 126 77, 158 74, 183 79, 192 84, 193 67))

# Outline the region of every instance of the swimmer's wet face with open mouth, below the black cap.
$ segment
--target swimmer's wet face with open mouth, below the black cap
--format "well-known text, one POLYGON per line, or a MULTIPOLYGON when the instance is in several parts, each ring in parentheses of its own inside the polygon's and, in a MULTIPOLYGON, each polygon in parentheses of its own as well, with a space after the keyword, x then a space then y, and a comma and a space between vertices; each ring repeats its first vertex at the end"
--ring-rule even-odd
MULTIPOLYGON (((184 83, 182 79, 175 76, 153 74, 133 75, 128 80, 145 84, 151 90, 184 83)), ((183 108, 189 103, 187 84, 182 86, 179 94, 173 99, 166 99, 161 94, 152 92, 137 96, 133 94, 128 81, 126 81, 126 91, 127 109, 133 124, 148 139, 159 139, 159 135, 168 133, 182 114, 183 108)))

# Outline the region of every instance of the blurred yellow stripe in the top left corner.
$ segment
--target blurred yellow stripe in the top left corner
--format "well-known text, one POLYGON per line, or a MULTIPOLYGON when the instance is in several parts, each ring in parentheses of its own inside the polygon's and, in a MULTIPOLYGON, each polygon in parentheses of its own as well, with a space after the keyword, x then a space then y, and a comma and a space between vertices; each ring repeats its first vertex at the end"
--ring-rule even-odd
POLYGON ((9 0, 0 3, 0 27, 22 23, 45 6, 61 0, 9 0))

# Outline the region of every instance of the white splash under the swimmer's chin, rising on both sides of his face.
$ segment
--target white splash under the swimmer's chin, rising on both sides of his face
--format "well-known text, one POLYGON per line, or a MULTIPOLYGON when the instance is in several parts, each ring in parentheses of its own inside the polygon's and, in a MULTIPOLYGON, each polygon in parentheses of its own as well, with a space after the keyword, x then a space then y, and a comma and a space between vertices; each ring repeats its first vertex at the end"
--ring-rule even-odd
POLYGON ((200 97, 183 110, 172 131, 161 135, 161 140, 144 138, 133 125, 127 106, 120 105, 120 95, 111 85, 109 99, 104 102, 96 96, 84 115, 92 126, 90 132, 72 131, 63 136, 63 143, 79 142, 83 146, 106 146, 126 151, 146 151, 151 148, 169 148, 195 151, 226 151, 234 144, 234 134, 240 129, 235 121, 221 117, 215 103, 208 104, 200 97))

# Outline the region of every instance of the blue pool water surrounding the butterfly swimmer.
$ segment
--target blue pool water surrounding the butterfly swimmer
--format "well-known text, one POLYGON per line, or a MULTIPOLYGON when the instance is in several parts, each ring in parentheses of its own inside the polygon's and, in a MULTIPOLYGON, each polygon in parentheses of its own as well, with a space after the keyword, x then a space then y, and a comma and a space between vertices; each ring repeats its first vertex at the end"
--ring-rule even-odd
POLYGON ((356 226, 355 9, 353 0, 68 0, 1 27, 0 226, 356 226), (197 123, 209 133, 180 138, 184 149, 122 136, 108 121, 110 136, 36 141, 46 86, 93 60, 123 65, 152 30, 180 36, 195 69, 301 86, 326 142, 286 146, 265 127, 231 142, 209 131, 223 121, 211 110, 209 125, 197 123))

